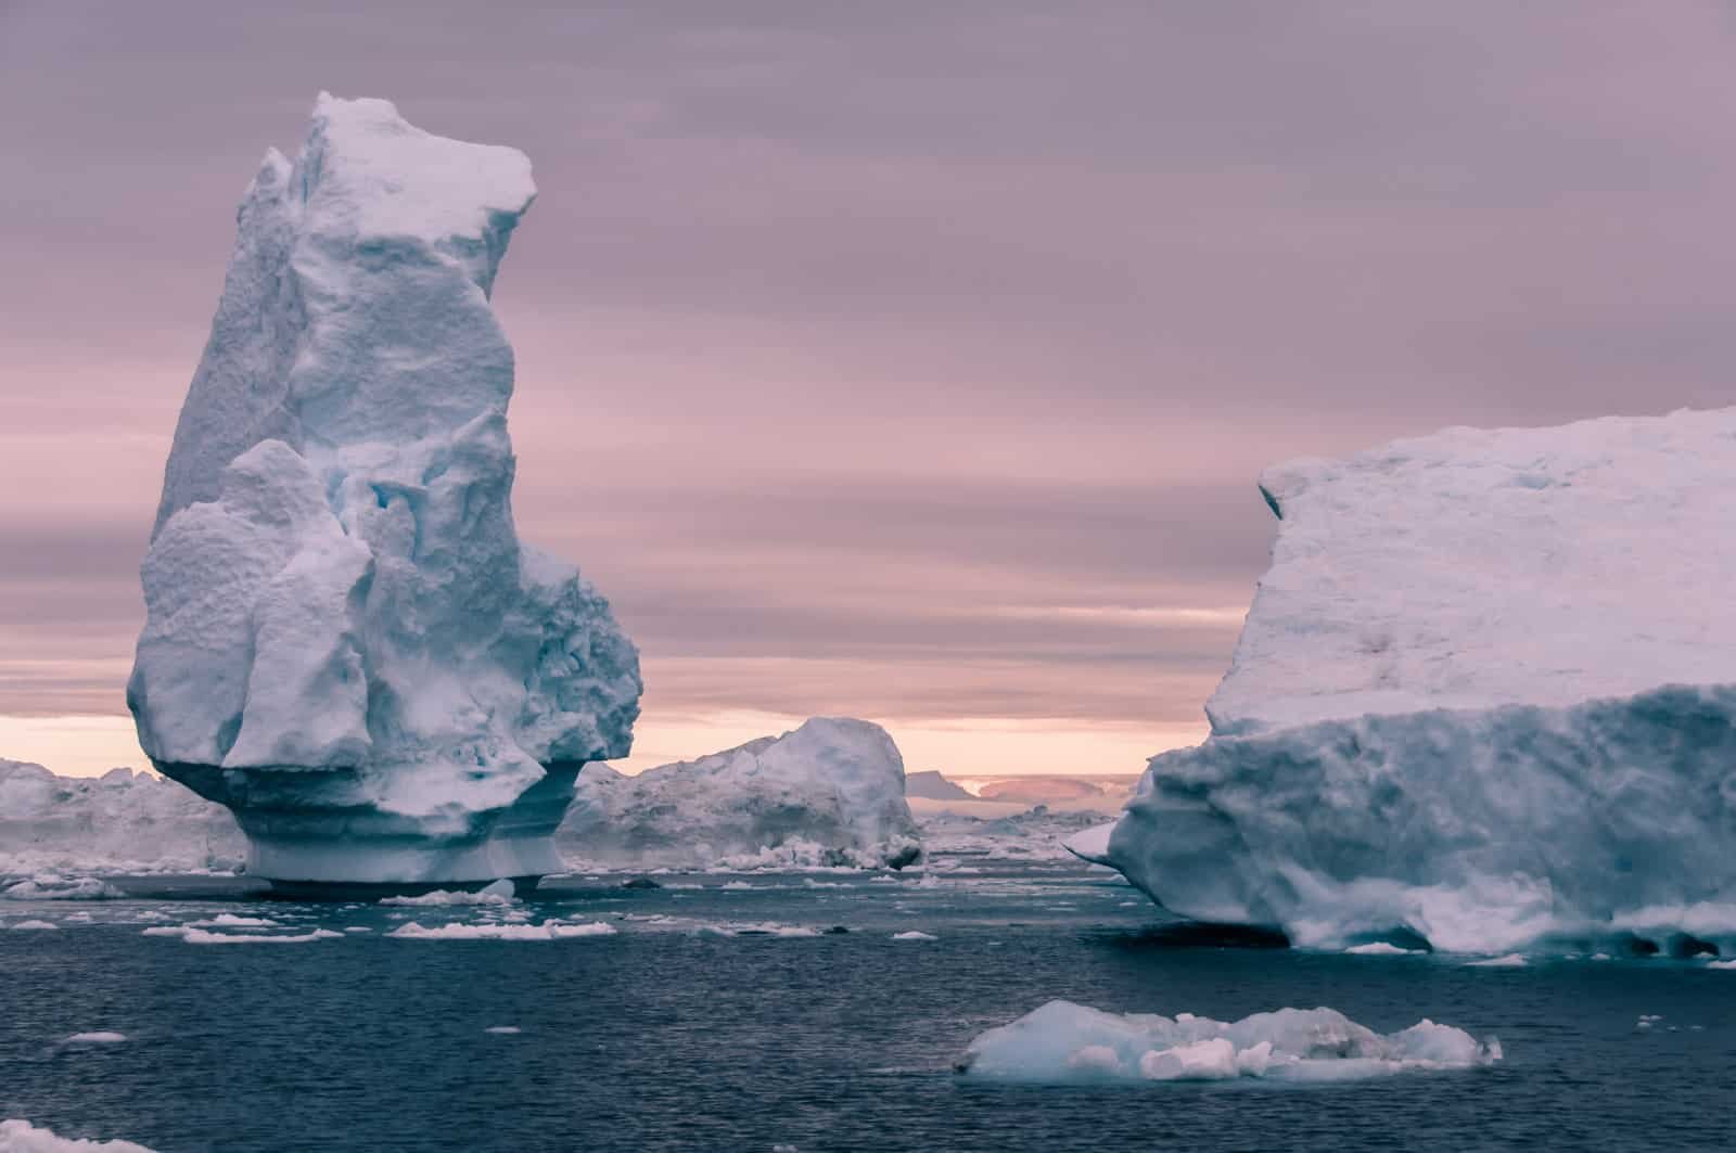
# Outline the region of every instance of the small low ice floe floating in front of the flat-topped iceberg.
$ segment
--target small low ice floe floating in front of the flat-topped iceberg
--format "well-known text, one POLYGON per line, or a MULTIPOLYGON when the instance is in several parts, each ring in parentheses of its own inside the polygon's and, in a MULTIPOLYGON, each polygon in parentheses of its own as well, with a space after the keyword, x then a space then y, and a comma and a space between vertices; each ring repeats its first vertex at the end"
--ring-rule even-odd
POLYGON ((1226 1023, 1191 1012, 1123 1016, 1052 1000, 972 1040, 958 1071, 1014 1082, 1314 1082, 1469 1070, 1500 1057, 1500 1042, 1477 1042, 1434 1021, 1382 1035, 1335 1009, 1279 1009, 1226 1023))

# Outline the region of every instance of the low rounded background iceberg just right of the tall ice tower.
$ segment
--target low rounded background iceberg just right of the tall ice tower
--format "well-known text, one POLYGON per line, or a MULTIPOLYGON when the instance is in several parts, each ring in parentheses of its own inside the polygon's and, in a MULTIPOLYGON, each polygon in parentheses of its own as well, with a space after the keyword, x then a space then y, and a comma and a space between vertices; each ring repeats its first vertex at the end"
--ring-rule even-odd
POLYGON ((557 839, 587 861, 672 868, 903 868, 922 856, 898 745, 849 717, 639 776, 590 766, 557 839))

